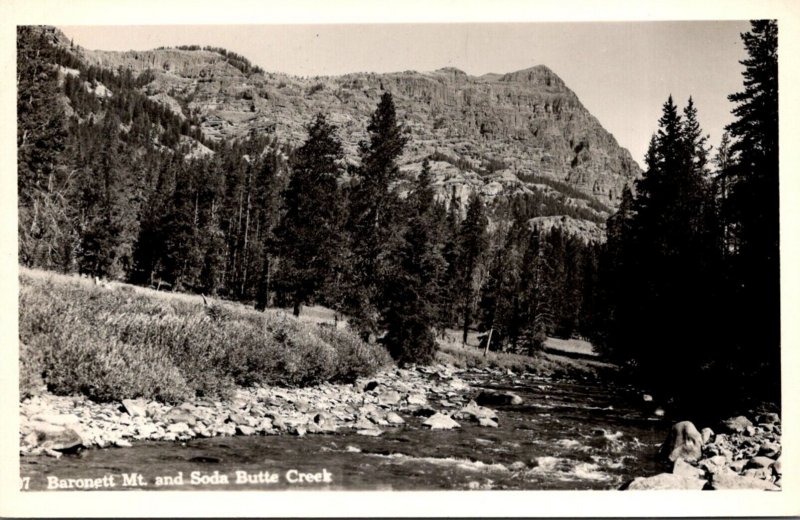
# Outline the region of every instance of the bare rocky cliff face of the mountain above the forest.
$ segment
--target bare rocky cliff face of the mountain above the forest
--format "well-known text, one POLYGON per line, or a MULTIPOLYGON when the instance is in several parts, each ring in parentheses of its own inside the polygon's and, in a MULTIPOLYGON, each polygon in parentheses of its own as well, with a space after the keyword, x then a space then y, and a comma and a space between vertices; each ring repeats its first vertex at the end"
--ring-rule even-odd
MULTIPOLYGON (((630 153, 545 66, 480 77, 446 68, 300 78, 245 74, 206 50, 79 52, 95 65, 153 71, 145 93, 173 110, 196 114, 205 135, 214 139, 273 131, 300 143, 305 125, 324 112, 338 125, 348 156, 357 160, 369 115, 388 90, 409 133, 402 159, 409 172, 438 152, 462 171, 558 180, 611 207, 640 174, 630 153)), ((479 177, 481 191, 492 191, 484 185, 495 180, 479 177)))

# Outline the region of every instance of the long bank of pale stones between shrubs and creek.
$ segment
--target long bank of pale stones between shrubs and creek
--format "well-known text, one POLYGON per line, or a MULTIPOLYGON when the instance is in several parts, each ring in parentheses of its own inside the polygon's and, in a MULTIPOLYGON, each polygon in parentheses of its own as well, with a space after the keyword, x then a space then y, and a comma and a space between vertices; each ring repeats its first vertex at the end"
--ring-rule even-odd
MULTIPOLYGON (((478 369, 483 374, 492 370, 478 369)), ((20 454, 60 457, 142 440, 302 436, 343 429, 378 436, 385 428, 404 424, 401 413, 423 418, 422 427, 433 430, 458 428, 458 421, 496 428, 497 414, 482 405, 518 404, 521 399, 512 393, 478 392, 462 379, 466 372, 444 365, 392 368, 349 385, 239 389, 229 401, 177 406, 139 399, 95 403, 82 396, 43 394, 20 403, 20 454)))

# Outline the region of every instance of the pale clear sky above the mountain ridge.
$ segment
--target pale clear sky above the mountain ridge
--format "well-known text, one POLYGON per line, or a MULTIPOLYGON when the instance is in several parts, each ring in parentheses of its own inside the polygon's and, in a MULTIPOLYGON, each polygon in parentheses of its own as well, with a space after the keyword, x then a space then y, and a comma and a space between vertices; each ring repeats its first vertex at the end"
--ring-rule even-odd
POLYGON ((430 71, 471 75, 546 65, 643 163, 661 107, 693 97, 709 143, 742 89, 747 21, 60 26, 87 49, 213 45, 266 71, 300 76, 430 71))

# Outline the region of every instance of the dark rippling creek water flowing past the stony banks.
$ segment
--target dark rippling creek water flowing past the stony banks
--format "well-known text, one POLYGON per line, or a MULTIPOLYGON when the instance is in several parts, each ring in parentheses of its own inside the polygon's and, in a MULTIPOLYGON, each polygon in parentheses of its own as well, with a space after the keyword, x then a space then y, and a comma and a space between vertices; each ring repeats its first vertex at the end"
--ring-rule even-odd
POLYGON ((511 390, 523 404, 494 407, 499 428, 461 421, 460 429, 430 431, 420 427, 423 419, 404 416, 406 425, 384 428, 380 437, 344 430, 147 441, 60 459, 22 457, 21 473, 30 490, 89 478, 113 482, 102 487, 113 490, 446 490, 617 489, 661 471, 654 455, 669 423, 630 389, 589 379, 465 379, 511 390))

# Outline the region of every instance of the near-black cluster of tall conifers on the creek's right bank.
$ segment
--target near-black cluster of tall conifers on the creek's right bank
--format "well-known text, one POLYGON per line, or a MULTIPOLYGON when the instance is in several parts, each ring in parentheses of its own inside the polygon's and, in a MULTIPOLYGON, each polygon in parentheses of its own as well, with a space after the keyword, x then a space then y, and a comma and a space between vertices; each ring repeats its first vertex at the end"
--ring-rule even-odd
POLYGON ((686 407, 780 402, 777 30, 742 35, 744 90, 716 154, 692 99, 670 96, 608 221, 595 339, 686 407))

